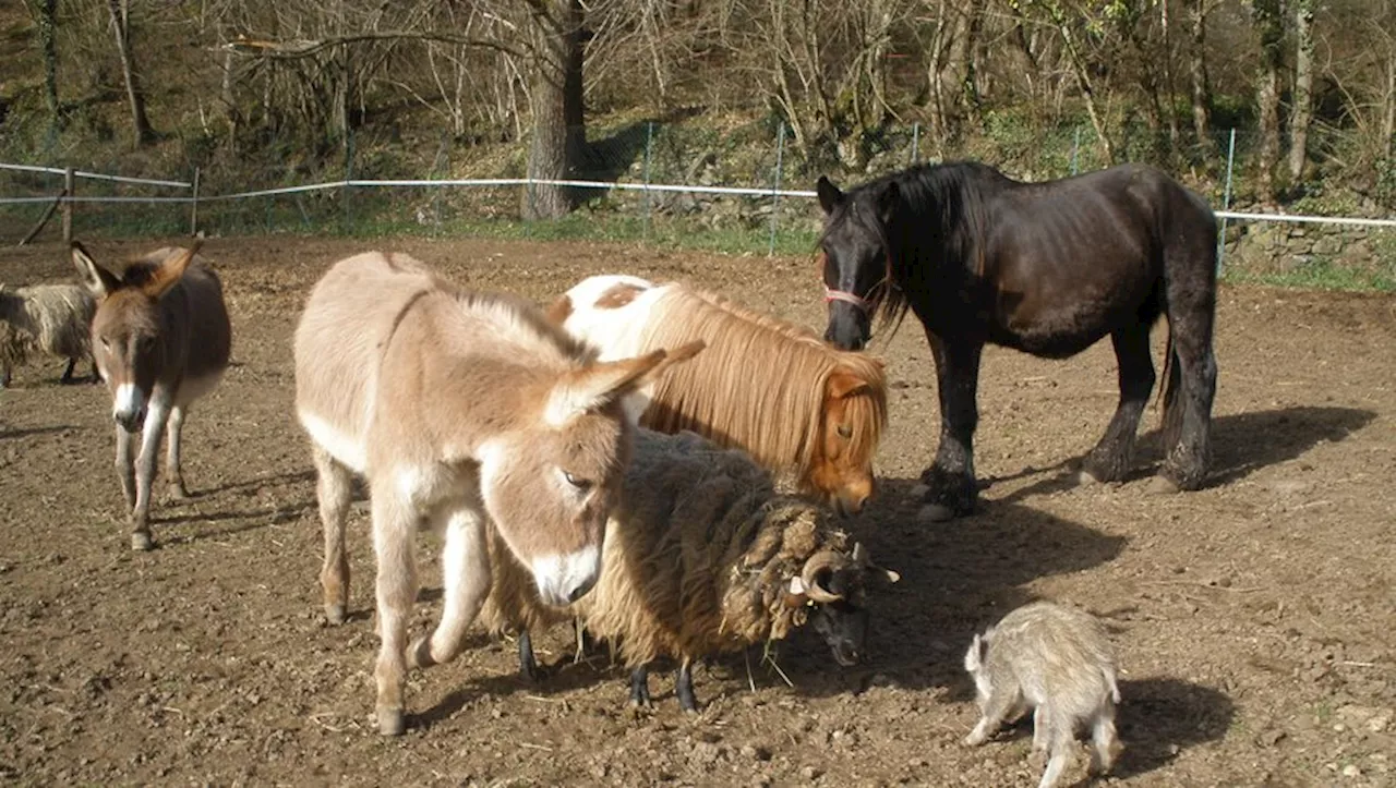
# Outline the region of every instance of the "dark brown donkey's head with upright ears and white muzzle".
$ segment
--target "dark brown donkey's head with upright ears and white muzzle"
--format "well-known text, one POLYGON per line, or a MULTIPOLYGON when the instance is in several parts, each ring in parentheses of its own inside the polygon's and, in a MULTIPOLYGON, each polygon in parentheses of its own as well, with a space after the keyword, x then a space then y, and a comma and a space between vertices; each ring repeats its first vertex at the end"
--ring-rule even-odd
POLYGON ((168 360, 159 300, 188 269, 202 241, 154 252, 163 262, 138 262, 112 273, 73 243, 73 265, 96 300, 92 356, 112 389, 112 418, 127 432, 141 428, 155 381, 168 360))

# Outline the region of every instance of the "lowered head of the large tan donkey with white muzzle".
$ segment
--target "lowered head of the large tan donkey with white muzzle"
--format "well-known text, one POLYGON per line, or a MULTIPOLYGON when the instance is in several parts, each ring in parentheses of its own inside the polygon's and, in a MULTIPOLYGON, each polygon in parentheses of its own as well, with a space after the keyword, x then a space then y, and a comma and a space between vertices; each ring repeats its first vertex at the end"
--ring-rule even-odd
POLYGON ((544 603, 572 603, 600 575, 606 520, 620 501, 631 455, 625 395, 701 349, 695 342, 586 364, 533 397, 532 423, 482 446, 486 510, 510 551, 532 570, 544 603))

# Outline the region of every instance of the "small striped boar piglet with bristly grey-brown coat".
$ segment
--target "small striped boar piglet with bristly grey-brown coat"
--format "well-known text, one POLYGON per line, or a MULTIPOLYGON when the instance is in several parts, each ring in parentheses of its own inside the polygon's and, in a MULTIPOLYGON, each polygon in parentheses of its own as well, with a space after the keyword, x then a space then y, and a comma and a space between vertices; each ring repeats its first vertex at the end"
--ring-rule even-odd
POLYGON ((965 669, 981 713, 966 745, 984 743, 1002 722, 1033 710, 1033 750, 1051 755, 1039 788, 1057 785, 1083 727, 1092 732, 1092 771, 1110 771, 1121 749, 1120 688, 1115 658, 1094 616, 1050 601, 1026 604, 974 636, 965 669))

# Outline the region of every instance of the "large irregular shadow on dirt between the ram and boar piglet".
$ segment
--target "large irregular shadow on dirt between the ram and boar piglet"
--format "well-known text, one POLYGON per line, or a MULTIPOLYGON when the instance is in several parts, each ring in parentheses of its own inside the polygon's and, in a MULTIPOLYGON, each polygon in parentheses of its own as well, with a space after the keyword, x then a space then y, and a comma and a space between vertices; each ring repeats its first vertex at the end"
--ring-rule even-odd
POLYGON ((884 480, 868 509, 847 526, 875 563, 902 576, 895 584, 868 586, 867 658, 838 671, 822 640, 800 630, 779 664, 801 692, 861 692, 885 682, 970 700, 963 656, 974 633, 1032 601, 1026 583, 1106 563, 1128 541, 1002 501, 969 517, 923 523, 916 517, 916 485, 914 478, 884 480))

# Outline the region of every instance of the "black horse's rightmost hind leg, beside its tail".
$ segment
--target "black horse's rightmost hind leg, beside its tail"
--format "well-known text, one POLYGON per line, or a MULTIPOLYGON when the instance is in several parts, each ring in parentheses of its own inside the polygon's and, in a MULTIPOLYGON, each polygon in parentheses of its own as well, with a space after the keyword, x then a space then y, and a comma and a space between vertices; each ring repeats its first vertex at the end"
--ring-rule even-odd
MULTIPOLYGON (((1206 259, 1206 258, 1203 258, 1206 259)), ((1168 349, 1173 368, 1164 382, 1164 487, 1196 490, 1212 453, 1212 400, 1217 363, 1212 351, 1216 279, 1210 262, 1203 282, 1168 280, 1168 349)), ((1196 278, 1194 278, 1196 279, 1196 278)))

